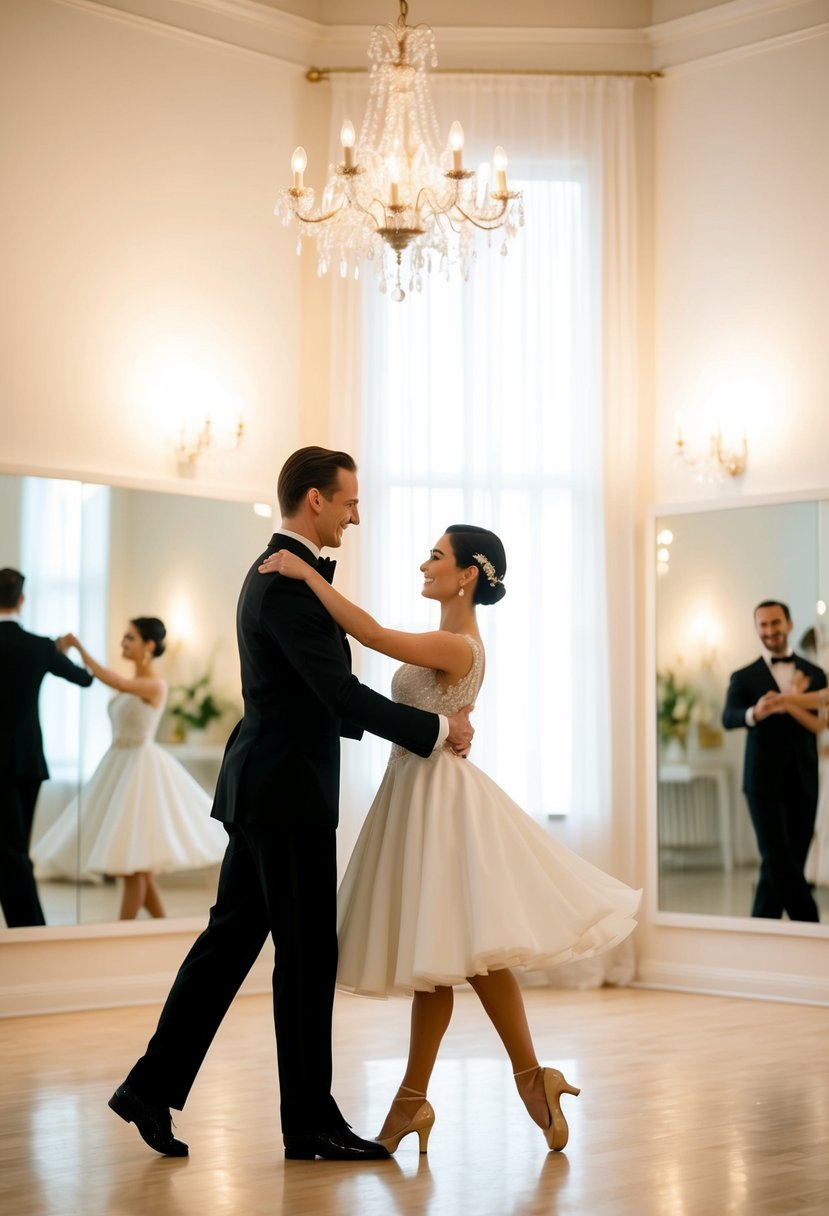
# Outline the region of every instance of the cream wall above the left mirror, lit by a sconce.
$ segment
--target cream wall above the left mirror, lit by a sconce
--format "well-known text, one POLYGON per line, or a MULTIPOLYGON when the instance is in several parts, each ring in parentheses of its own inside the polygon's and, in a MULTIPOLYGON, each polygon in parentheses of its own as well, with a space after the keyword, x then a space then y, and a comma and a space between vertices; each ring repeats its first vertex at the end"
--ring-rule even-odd
POLYGON ((303 268, 272 212, 320 98, 95 5, 4 0, 0 47, 4 463, 175 482, 182 423, 241 412, 201 482, 272 496, 303 434, 303 268))

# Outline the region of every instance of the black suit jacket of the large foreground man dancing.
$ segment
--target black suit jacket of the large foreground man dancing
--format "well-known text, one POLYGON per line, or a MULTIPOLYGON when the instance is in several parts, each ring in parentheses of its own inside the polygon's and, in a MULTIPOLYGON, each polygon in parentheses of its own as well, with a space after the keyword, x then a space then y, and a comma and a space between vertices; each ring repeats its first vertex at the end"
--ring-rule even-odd
POLYGON ((278 533, 242 585, 236 631, 244 717, 231 734, 213 807, 224 823, 272 816, 339 816, 340 736, 363 730, 429 755, 439 719, 399 705, 351 674, 345 635, 299 579, 259 574, 280 548, 314 564, 310 550, 278 533))

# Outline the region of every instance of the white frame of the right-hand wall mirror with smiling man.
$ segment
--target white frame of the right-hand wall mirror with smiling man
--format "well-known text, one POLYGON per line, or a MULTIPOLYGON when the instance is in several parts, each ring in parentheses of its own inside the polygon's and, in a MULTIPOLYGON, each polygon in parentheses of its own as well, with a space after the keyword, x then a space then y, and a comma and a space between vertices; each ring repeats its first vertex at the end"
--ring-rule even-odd
POLYGON ((714 929, 720 933, 760 933, 782 938, 829 938, 829 924, 806 921, 768 921, 761 917, 710 916, 700 912, 662 912, 659 907, 659 815, 658 815, 658 742, 656 742, 656 530, 662 516, 703 514, 711 511, 739 511, 744 507, 772 507, 789 502, 829 500, 829 488, 762 494, 745 497, 697 499, 686 502, 660 502, 648 508, 644 535, 645 554, 645 687, 644 687, 644 764, 645 764, 645 907, 655 925, 676 929, 714 929))

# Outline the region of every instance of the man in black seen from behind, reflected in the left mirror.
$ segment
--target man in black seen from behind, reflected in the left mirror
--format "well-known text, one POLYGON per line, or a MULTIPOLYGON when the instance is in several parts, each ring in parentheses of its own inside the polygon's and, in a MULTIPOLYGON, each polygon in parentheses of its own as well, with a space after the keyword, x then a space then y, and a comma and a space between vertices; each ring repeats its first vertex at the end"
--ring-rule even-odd
POLYGON ((21 627, 23 575, 0 570, 0 906, 10 929, 45 924, 29 857, 40 784, 49 777, 38 699, 46 672, 88 687, 92 676, 63 653, 68 635, 21 627))

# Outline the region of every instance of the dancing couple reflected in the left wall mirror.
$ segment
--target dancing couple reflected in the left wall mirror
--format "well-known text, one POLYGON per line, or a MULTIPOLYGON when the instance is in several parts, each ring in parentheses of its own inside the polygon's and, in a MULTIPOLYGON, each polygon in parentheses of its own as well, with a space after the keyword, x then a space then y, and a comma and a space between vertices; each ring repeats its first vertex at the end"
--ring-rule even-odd
POLYGON ((210 799, 154 742, 167 685, 152 662, 164 653, 157 617, 130 620, 122 658, 134 675, 105 668, 74 634, 40 637, 23 629, 26 579, 0 570, 0 906, 10 929, 46 923, 36 879, 120 878, 120 919, 142 908, 164 916, 157 873, 218 863, 226 834, 210 818, 210 799), (84 666, 67 657, 77 649, 84 666), (40 726, 40 686, 47 675, 81 688, 113 688, 107 706, 112 744, 95 772, 32 848, 35 807, 49 778, 40 726), (36 877, 35 877, 36 874, 36 877))

